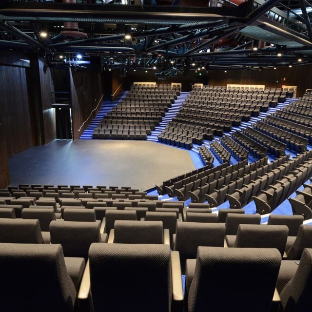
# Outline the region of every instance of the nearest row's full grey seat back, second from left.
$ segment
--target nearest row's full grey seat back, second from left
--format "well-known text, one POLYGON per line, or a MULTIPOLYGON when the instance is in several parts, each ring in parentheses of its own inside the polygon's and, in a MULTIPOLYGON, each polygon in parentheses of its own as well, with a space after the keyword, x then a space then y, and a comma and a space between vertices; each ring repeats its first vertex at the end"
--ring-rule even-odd
POLYGON ((168 245, 92 244, 89 261, 95 311, 170 311, 168 245))

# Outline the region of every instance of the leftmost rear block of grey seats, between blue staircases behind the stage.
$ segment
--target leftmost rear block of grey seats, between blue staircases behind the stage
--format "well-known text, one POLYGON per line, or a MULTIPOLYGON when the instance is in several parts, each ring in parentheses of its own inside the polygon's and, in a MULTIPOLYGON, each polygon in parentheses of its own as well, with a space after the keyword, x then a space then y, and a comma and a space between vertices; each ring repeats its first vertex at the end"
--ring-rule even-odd
POLYGON ((134 85, 127 97, 97 125, 92 137, 145 140, 179 94, 171 85, 134 85))

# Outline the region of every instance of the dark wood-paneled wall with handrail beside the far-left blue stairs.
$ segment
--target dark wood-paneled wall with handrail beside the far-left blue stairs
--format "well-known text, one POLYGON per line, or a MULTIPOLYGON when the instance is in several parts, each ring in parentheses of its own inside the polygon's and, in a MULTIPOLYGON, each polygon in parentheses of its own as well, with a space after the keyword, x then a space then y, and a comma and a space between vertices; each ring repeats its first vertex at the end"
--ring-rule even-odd
POLYGON ((73 139, 78 139, 88 127, 92 118, 96 116, 101 106, 103 96, 102 80, 101 74, 91 70, 75 71, 70 69, 69 78, 73 139), (88 117, 90 118, 88 119, 88 117))

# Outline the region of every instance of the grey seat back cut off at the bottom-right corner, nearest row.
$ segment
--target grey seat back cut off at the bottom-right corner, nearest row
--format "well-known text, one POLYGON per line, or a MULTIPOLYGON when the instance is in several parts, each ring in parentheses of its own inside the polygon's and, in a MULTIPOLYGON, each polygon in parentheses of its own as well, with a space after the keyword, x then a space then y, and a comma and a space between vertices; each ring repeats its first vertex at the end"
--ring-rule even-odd
POLYGON ((304 249, 298 269, 280 293, 283 311, 307 311, 311 305, 312 249, 304 249))

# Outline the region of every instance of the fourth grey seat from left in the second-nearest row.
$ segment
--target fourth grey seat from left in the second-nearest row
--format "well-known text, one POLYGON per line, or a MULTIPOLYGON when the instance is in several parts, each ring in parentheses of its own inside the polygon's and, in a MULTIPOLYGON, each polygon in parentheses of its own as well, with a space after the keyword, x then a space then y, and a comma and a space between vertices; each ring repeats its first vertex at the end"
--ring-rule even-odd
POLYGON ((186 260, 196 258, 198 246, 223 247, 224 236, 224 224, 177 222, 173 240, 174 250, 180 254, 182 272, 186 260))

